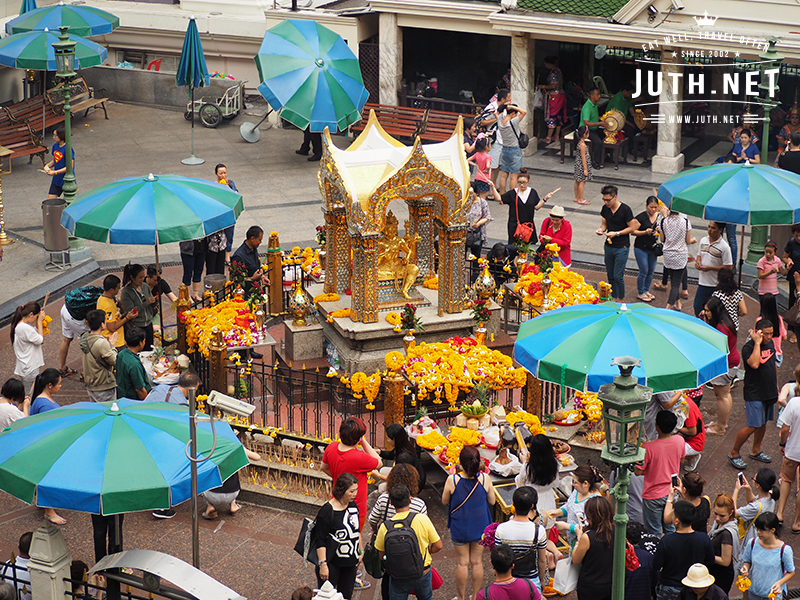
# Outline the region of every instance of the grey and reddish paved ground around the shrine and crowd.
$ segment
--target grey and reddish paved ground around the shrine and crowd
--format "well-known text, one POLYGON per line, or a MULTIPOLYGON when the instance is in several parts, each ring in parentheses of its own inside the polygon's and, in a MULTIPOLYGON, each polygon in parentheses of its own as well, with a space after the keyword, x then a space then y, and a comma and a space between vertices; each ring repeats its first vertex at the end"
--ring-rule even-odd
MULTIPOLYGON (((298 131, 273 128, 262 131, 261 141, 257 144, 244 142, 239 136, 238 127, 245 120, 257 121, 259 107, 256 106, 251 112, 254 114, 240 116, 215 130, 197 128, 195 154, 207 162, 201 167, 187 167, 180 163, 180 159, 189 155, 190 131, 180 113, 110 103, 110 120, 106 121, 95 113, 86 119, 78 119, 74 128, 80 190, 91 190, 120 177, 144 176, 149 172, 211 179, 214 164, 225 162, 245 197, 246 210, 237 225, 237 244, 241 242, 244 230, 254 223, 267 231, 278 229, 284 246, 310 243, 315 226, 322 222, 316 165, 294 154, 294 149, 300 143, 298 131)), ((336 137, 335 143, 344 145, 347 140, 336 137)), ((600 221, 601 185, 618 184, 621 199, 638 212, 644 204, 644 198, 651 193, 651 187, 663 180, 652 175, 641 164, 623 165, 619 171, 606 168, 598 172, 595 180, 587 185, 586 197, 592 200, 592 204, 579 207, 572 202, 572 168, 569 159, 561 166, 552 151, 548 150, 527 158, 525 163, 532 169, 534 188, 542 195, 562 187, 554 202, 564 206, 572 222, 575 231, 574 260, 596 265, 602 263, 602 246, 593 233, 600 221)), ((17 160, 13 173, 4 176, 2 182, 7 228, 18 241, 4 248, 4 260, 0 263, 0 308, 5 308, 5 311, 0 310, 0 319, 7 316, 8 309, 16 299, 25 295, 41 299, 48 289, 57 291, 67 286, 74 287, 78 280, 82 284, 99 281, 98 278, 104 274, 97 271, 99 267, 121 270, 121 265, 128 260, 149 263, 153 258, 152 250, 148 247, 87 243, 96 263, 88 262, 73 267, 57 277, 45 271, 40 202, 46 196, 49 182, 37 171, 38 166, 17 160)), ((392 208, 402 214, 402 206, 392 208)), ((494 221, 489 225, 491 241, 504 240, 508 209, 494 203, 490 208, 494 216, 494 221)), ((537 223, 542 218, 543 215, 537 217, 537 223)), ((704 229, 700 221, 693 220, 693 223, 704 229)), ((177 246, 163 247, 161 257, 166 263, 179 260, 177 246)), ((168 267, 165 276, 177 284, 180 268, 168 267)), ((590 275, 592 279, 596 276, 596 272, 590 275)), ((635 296, 635 282, 629 277, 626 285, 628 300, 631 301, 635 296)), ((45 344, 46 361, 50 366, 57 366, 60 341, 58 310, 62 300, 58 296, 53 295, 48 307, 48 313, 55 319, 51 325, 53 333, 45 344)), ((656 304, 663 306, 665 294, 659 292, 657 297, 656 304)), ((743 331, 752 326, 753 315, 757 312, 754 302, 749 301, 748 307, 750 316, 743 319, 743 331)), ((786 358, 779 373, 781 383, 791 378, 794 365, 800 361, 794 346, 786 344, 784 348, 786 358)), ((69 364, 73 368, 80 367, 75 347, 72 348, 69 364)), ((13 367, 13 351, 6 327, 0 329, 0 378, 3 381, 11 374, 13 367)), ((83 385, 75 376, 68 378, 59 401, 66 404, 82 399, 85 399, 83 385)), ((713 395, 708 392, 702 404, 706 420, 711 420, 708 411, 713 409, 714 404, 713 395)), ((740 387, 734 390, 734 404, 728 435, 724 438, 709 436, 700 463, 700 473, 708 482, 706 492, 712 498, 720 491, 730 493, 733 489, 735 472, 725 456, 736 432, 744 424, 740 387)), ((745 446, 743 454, 748 448, 749 445, 745 446)), ((775 458, 773 468, 779 470, 777 430, 774 427, 768 428, 765 448, 775 458)), ((754 473, 757 466, 751 465, 748 473, 754 473)), ((423 497, 428 501, 434 523, 445 539, 444 551, 435 560, 445 585, 436 593, 436 597, 452 598, 455 595, 455 554, 446 529, 446 511, 438 500, 443 476, 433 465, 430 467, 430 480, 436 488, 424 492, 423 497)), ((794 503, 792 494, 786 507, 787 526, 784 532, 785 541, 793 545, 796 538, 788 531, 791 523, 788 517, 793 514, 794 503)), ((93 554, 88 516, 72 512, 65 512, 64 516, 68 523, 63 530, 72 556, 91 564, 93 554)), ((0 557, 8 556, 19 535, 36 528, 41 518, 41 510, 0 493, 0 557)), ((286 598, 297 586, 314 584, 311 568, 301 564, 291 550, 299 530, 300 517, 247 506, 239 515, 228 517, 225 521, 216 533, 214 529, 218 522, 202 521, 200 524, 201 565, 211 575, 249 598, 286 598)), ((190 530, 188 506, 179 507, 178 516, 167 522, 157 521, 149 514, 132 514, 125 521, 125 546, 157 549, 190 560, 190 530)), ((484 564, 488 582, 491 579, 488 560, 484 564)), ((371 598, 372 592, 372 589, 368 590, 363 597, 371 598)))

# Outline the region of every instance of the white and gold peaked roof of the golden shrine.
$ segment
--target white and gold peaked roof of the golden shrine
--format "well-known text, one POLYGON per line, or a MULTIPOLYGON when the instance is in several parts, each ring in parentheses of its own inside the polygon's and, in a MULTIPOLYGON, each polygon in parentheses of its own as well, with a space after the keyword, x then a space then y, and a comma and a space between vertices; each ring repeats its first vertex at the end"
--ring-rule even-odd
MULTIPOLYGON (((413 145, 407 146, 386 133, 375 112, 370 111, 364 131, 349 148, 337 148, 327 135, 326 146, 352 208, 358 205, 364 214, 373 213, 374 195, 385 190, 387 184, 391 186, 392 178, 399 175, 408 183, 409 178, 413 180, 418 174, 420 184, 436 182, 450 189, 448 196, 457 196, 448 203, 452 211, 456 208, 452 205, 468 205, 469 200, 469 166, 463 138, 463 121, 459 118, 449 139, 422 144, 417 138, 413 145)), ((382 226, 382 215, 373 215, 379 217, 382 226)))

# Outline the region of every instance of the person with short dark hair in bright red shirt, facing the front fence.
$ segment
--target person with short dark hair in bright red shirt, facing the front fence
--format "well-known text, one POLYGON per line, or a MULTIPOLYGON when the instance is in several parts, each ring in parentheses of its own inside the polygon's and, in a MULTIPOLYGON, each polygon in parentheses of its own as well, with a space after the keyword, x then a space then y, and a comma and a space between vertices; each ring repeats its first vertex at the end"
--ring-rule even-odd
POLYGON ((351 473, 358 479, 358 528, 364 528, 367 519, 367 475, 380 468, 381 458, 370 446, 367 426, 358 417, 348 417, 339 426, 340 442, 328 444, 322 455, 322 471, 336 481, 342 473, 351 473), (361 444, 363 450, 356 448, 361 444))

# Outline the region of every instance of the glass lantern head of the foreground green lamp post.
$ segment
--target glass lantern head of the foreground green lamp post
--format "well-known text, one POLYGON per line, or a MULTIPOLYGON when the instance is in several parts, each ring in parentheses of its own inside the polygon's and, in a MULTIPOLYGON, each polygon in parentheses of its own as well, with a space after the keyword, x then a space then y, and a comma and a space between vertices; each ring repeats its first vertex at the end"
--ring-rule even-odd
POLYGON ((627 466, 644 460, 641 448, 644 410, 653 390, 638 385, 638 379, 631 375, 634 367, 641 366, 638 358, 622 356, 611 364, 619 367, 620 374, 614 377, 614 383, 600 386, 598 392, 606 428, 606 447, 601 457, 615 465, 627 466))

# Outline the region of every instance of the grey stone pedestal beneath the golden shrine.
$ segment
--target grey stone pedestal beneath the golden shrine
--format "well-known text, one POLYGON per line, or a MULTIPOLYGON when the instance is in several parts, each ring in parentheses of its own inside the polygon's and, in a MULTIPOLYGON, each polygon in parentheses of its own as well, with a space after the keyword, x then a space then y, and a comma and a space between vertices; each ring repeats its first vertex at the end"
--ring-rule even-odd
MULTIPOLYGON (((417 287, 417 291, 429 302, 428 306, 417 308, 417 317, 422 321, 424 331, 414 334, 416 343, 443 342, 453 336, 471 337, 475 331, 475 321, 470 316, 470 311, 457 314, 438 314, 437 291, 417 287)), ((322 293, 322 286, 312 285, 308 293, 313 297, 322 293)), ((391 324, 386 321, 387 310, 380 311, 380 318, 376 323, 360 323, 349 318, 338 318, 333 323, 328 323, 329 312, 350 307, 350 297, 342 295, 338 302, 323 302, 320 304, 320 317, 323 319, 323 332, 325 338, 333 344, 339 353, 341 371, 354 373, 362 371, 370 374, 383 371, 386 368, 384 357, 391 350, 403 351, 403 333, 394 331, 391 324)), ((500 306, 491 302, 491 320, 486 324, 487 342, 491 334, 500 331, 500 306)), ((399 311, 395 311, 399 312, 399 311)), ((287 342, 288 347, 288 342, 287 342)))

